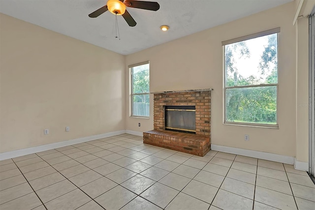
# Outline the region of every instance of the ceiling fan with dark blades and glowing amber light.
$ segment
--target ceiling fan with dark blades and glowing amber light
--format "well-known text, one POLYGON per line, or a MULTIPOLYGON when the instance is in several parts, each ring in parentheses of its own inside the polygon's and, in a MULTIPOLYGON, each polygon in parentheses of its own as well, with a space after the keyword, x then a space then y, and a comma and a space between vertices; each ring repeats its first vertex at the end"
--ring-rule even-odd
POLYGON ((111 13, 115 15, 123 15, 127 24, 133 27, 137 23, 134 21, 134 19, 131 17, 129 12, 126 10, 126 7, 157 11, 159 9, 159 4, 158 2, 141 1, 141 0, 108 0, 105 6, 89 14, 89 17, 91 18, 98 17, 99 15, 109 10, 111 13))

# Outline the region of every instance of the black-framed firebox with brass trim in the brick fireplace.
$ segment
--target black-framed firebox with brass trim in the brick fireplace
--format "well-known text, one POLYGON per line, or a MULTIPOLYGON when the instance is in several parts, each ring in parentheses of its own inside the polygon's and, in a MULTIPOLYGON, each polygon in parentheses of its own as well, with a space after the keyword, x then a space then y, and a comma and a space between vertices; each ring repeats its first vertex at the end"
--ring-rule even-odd
POLYGON ((196 133, 195 106, 165 106, 165 130, 196 133))

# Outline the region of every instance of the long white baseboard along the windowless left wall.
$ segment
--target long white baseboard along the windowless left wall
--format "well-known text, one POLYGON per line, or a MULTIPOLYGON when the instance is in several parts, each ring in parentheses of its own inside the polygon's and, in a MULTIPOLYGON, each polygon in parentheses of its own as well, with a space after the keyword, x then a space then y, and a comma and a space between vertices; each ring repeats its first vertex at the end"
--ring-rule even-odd
POLYGON ((34 147, 25 148, 25 149, 18 149, 18 150, 14 150, 14 151, 10 151, 10 152, 3 152, 3 153, 0 153, 0 160, 6 160, 9 158, 20 157, 23 155, 29 155, 29 154, 33 154, 36 152, 46 151, 49 149, 56 149, 56 148, 63 147, 63 146, 68 146, 68 145, 72 145, 72 144, 76 144, 76 143, 82 143, 82 142, 86 142, 86 141, 90 141, 90 140, 98 140, 98 139, 102 139, 102 138, 106 138, 106 137, 112 137, 112 136, 116 136, 119 134, 125 134, 125 133, 126 133, 126 130, 114 131, 114 132, 110 132, 110 133, 106 133, 106 134, 99 134, 99 135, 90 136, 90 137, 83 137, 83 138, 78 138, 78 139, 74 139, 74 140, 65 140, 65 141, 61 141, 61 142, 50 143, 50 144, 45 144, 45 145, 40 145, 40 146, 34 146, 34 147))

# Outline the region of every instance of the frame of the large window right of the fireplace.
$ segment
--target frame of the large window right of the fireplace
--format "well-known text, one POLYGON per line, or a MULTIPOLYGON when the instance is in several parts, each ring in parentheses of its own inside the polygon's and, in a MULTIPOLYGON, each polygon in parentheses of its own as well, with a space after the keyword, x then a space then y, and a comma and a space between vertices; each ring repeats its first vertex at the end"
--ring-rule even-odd
POLYGON ((279 107, 279 34, 280 28, 271 29, 268 31, 259 32, 252 35, 246 35, 226 41, 222 41, 222 48, 223 48, 223 124, 224 125, 238 125, 238 126, 250 126, 250 127, 263 127, 263 128, 276 128, 279 129, 279 114, 278 114, 278 107, 279 107), (253 38, 258 38, 261 36, 277 34, 277 83, 272 84, 257 84, 257 85, 237 85, 237 86, 229 86, 226 87, 226 69, 225 69, 225 45, 233 44, 236 42, 246 41, 253 38), (268 86, 276 86, 277 90, 277 99, 276 99, 276 124, 263 124, 263 123, 247 123, 247 122, 230 122, 226 121, 226 90, 227 89, 234 89, 234 88, 250 88, 250 87, 268 87, 268 86))

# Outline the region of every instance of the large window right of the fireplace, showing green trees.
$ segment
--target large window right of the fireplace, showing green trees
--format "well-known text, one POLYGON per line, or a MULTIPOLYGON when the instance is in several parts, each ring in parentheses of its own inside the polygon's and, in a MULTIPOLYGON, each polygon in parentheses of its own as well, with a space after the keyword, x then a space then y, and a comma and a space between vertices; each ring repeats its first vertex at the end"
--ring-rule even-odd
POLYGON ((224 123, 278 127, 280 28, 222 42, 224 123))

